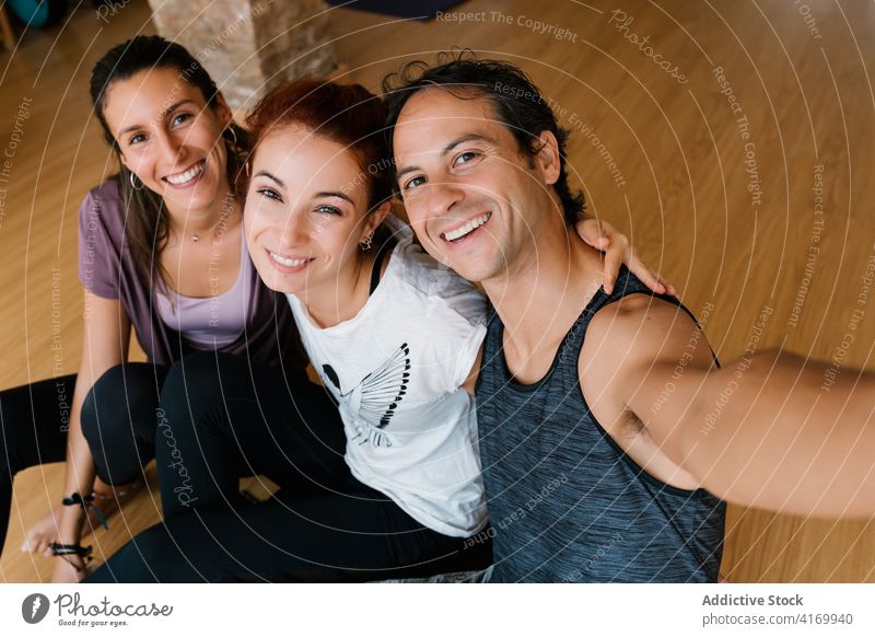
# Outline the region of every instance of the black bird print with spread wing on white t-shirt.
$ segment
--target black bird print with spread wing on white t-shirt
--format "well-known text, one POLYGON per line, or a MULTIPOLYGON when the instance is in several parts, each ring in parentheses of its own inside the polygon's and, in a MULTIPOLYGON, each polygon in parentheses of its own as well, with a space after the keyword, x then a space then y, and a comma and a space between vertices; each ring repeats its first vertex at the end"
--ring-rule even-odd
POLYGON ((330 364, 322 366, 323 372, 337 389, 338 402, 352 417, 352 439, 360 444, 371 442, 374 447, 392 447, 383 429, 407 394, 410 382, 410 347, 402 343, 382 366, 364 377, 358 385, 343 392, 340 378, 330 364))

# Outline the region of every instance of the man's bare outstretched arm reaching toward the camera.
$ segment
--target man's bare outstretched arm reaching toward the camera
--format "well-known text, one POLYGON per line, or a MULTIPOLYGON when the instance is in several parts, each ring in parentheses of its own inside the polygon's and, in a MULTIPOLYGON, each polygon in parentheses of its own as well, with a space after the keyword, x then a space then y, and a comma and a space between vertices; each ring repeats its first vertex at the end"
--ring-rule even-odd
POLYGON ((596 317, 608 319, 606 343, 628 344, 614 351, 610 391, 663 453, 739 505, 875 514, 875 374, 835 378, 824 363, 774 351, 718 369, 686 313, 637 297, 596 317))

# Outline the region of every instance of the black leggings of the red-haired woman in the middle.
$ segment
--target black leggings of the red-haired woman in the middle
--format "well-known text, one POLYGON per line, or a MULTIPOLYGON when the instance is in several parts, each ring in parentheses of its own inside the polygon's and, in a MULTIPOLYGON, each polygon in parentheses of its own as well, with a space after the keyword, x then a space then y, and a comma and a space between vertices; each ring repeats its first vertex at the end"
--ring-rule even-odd
POLYGON ((156 455, 164 522, 86 581, 364 581, 479 570, 491 548, 423 526, 361 484, 323 387, 226 355, 167 377, 156 455), (238 477, 280 485, 243 501, 238 477))

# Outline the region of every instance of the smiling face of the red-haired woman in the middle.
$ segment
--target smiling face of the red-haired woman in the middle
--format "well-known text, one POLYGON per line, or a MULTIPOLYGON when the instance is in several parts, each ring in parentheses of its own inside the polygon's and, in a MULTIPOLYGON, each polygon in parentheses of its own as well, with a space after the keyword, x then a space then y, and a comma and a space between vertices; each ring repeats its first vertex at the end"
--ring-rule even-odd
POLYGON ((305 303, 345 289, 375 219, 352 153, 294 126, 259 141, 250 172, 243 219, 261 280, 305 303))

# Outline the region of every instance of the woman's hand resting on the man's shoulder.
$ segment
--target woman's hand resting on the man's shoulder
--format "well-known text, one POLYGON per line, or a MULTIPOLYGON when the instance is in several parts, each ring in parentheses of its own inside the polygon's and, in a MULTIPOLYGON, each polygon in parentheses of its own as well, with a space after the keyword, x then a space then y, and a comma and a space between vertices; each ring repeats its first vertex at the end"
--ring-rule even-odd
POLYGON ((620 265, 626 264, 626 267, 641 279, 642 283, 657 294, 677 296, 675 287, 660 276, 660 273, 653 271, 644 265, 644 262, 638 258, 629 239, 607 221, 584 219, 578 222, 576 229, 578 234, 587 245, 605 253, 605 269, 602 278, 603 287, 608 294, 614 291, 620 265))

